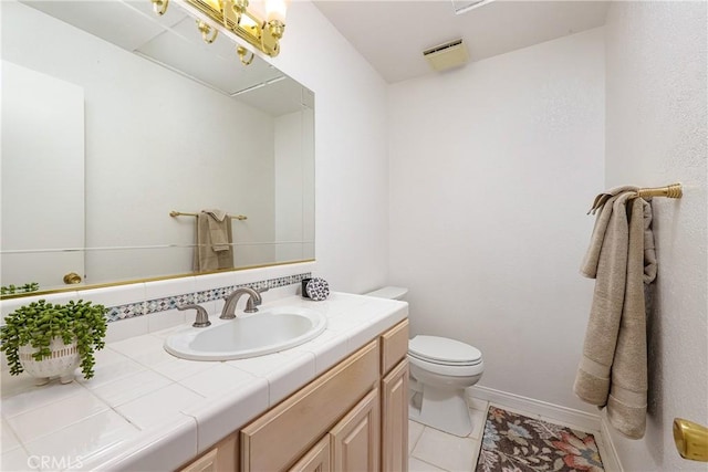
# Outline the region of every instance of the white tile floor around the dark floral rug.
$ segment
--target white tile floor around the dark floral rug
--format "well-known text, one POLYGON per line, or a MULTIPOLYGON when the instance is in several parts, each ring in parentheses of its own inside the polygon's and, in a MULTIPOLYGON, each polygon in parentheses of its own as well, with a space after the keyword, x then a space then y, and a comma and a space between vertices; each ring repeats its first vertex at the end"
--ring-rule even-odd
MULTIPOLYGON (((415 421, 408 421, 408 470, 410 472, 472 472, 477 465, 477 455, 481 445, 485 421, 487 419, 488 401, 472 399, 470 413, 472 432, 467 438, 448 434, 415 421)), ((528 417, 543 419, 550 422, 559 421, 544 418, 530 411, 521 411, 498 405, 509 411, 528 417)), ((571 424, 565 424, 571 426, 571 424)), ((572 426, 571 426, 572 427, 572 426)), ((600 454, 603 455, 603 444, 598 431, 589 431, 595 436, 600 454)))

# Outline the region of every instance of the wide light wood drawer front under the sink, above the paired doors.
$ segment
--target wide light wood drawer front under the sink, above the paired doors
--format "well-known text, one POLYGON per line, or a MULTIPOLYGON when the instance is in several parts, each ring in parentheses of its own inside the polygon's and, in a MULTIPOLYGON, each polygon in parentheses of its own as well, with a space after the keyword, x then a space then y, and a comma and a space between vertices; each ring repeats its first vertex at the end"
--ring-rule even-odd
POLYGON ((242 471, 281 471, 354 407, 379 379, 374 340, 241 430, 242 471))

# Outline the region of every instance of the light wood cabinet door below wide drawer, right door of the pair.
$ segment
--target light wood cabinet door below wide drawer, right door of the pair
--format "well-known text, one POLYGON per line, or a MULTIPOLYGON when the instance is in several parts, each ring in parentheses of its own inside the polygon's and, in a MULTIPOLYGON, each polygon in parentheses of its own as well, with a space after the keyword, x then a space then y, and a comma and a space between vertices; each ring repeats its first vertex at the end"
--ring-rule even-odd
POLYGON ((332 469, 378 471, 379 398, 375 388, 330 431, 332 469))

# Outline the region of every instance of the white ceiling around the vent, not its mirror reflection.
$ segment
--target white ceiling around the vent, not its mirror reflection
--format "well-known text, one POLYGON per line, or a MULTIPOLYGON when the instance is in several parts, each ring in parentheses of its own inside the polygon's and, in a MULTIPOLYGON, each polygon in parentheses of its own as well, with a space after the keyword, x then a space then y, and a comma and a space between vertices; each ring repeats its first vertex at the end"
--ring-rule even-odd
POLYGON ((451 0, 314 4, 388 83, 434 73, 423 51, 448 41, 461 38, 469 61, 479 61, 601 27, 608 7, 601 0, 494 0, 455 14, 451 0))

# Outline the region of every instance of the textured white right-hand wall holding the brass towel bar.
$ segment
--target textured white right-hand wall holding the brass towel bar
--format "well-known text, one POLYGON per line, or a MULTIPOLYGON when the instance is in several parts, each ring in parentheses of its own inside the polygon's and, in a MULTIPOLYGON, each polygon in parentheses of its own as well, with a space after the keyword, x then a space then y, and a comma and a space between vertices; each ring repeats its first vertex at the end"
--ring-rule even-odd
POLYGON ((675 417, 708 424, 706 2, 613 2, 606 22, 606 186, 681 182, 655 199, 646 436, 613 434, 627 471, 706 470, 679 458, 675 417))

